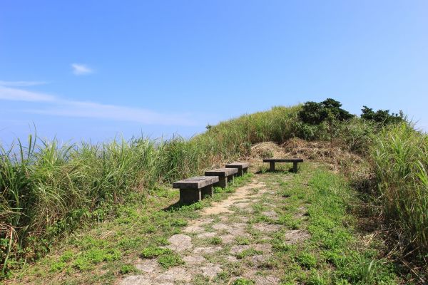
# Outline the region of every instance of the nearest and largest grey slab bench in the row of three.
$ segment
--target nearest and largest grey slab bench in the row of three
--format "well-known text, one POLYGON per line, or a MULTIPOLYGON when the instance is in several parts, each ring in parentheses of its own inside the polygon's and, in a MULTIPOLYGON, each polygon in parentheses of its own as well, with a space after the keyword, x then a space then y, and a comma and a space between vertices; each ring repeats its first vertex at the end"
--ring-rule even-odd
POLYGON ((173 188, 180 189, 180 202, 191 204, 205 196, 213 195, 213 185, 218 182, 218 176, 198 176, 173 183, 173 188))

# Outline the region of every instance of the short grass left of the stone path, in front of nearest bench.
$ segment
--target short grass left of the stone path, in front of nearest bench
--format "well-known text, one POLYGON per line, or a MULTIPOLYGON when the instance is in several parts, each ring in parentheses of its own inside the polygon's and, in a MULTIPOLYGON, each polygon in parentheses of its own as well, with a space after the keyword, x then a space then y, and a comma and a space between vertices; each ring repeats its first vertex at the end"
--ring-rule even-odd
POLYGON ((156 259, 164 269, 179 266, 183 264, 181 257, 163 248, 168 238, 180 233, 190 219, 198 217, 195 210, 228 197, 252 177, 251 174, 236 177, 228 192, 215 193, 213 198, 191 205, 174 205, 177 190, 168 190, 161 197, 133 199, 121 205, 113 219, 95 227, 77 229, 76 234, 56 244, 51 254, 11 271, 9 281, 15 284, 113 284, 118 276, 136 272, 130 260, 156 259), (173 207, 165 209, 171 204, 173 207), (123 222, 128 217, 132 217, 131 222, 123 222), (156 227, 152 228, 153 224, 156 227))

